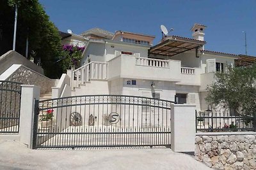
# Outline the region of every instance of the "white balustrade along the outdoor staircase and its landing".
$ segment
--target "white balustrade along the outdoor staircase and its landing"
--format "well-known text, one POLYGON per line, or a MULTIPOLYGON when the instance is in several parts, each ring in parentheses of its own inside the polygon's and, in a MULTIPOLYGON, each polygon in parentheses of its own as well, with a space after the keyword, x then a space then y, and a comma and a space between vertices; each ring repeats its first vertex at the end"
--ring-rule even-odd
POLYGON ((78 87, 90 80, 107 80, 108 64, 106 62, 90 62, 72 72, 72 87, 78 87))

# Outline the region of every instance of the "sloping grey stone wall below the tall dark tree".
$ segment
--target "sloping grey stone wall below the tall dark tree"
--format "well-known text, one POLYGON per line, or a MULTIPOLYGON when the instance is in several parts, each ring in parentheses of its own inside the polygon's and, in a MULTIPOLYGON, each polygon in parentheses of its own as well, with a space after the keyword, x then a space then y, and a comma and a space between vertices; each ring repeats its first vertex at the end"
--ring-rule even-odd
POLYGON ((47 78, 25 66, 20 66, 6 81, 16 81, 24 85, 37 85, 41 87, 41 94, 51 92, 51 88, 55 85, 55 80, 47 78))

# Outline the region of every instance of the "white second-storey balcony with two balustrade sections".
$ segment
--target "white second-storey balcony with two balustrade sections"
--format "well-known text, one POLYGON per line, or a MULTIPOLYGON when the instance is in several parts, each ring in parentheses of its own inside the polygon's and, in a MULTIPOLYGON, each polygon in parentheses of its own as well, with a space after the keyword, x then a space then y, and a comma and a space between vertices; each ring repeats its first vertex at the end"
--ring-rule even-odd
POLYGON ((180 60, 150 59, 122 54, 108 62, 108 80, 115 78, 174 81, 180 85, 200 85, 200 69, 181 67, 180 60))

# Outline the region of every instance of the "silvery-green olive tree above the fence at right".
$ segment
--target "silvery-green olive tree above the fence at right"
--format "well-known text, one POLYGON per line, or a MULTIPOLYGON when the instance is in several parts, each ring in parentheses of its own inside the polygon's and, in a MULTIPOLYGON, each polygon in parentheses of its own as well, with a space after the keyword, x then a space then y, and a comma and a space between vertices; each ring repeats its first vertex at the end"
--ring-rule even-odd
POLYGON ((216 81, 207 87, 207 103, 241 109, 246 115, 256 113, 256 64, 251 67, 229 67, 217 72, 216 81))

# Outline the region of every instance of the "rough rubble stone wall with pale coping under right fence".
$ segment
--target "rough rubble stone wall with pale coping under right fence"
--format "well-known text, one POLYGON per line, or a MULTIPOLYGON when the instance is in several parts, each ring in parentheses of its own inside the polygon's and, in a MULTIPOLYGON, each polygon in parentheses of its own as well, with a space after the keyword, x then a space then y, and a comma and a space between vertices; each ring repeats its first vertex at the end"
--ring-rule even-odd
POLYGON ((196 134, 195 159, 212 169, 256 169, 256 133, 196 134))

